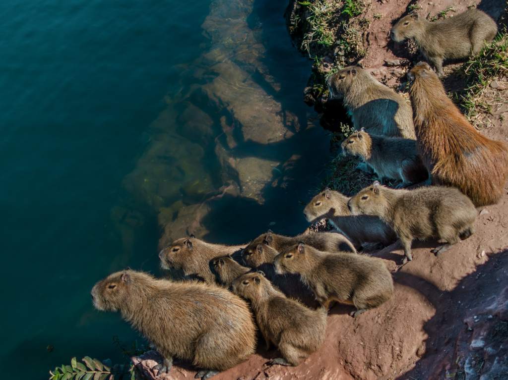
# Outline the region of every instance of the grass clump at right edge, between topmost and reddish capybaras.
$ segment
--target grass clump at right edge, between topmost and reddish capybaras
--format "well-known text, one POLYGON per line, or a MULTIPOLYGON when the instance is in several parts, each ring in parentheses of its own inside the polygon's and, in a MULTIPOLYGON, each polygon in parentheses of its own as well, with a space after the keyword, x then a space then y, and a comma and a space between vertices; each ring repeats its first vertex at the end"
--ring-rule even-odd
POLYGON ((481 112, 490 111, 489 99, 484 92, 495 78, 508 78, 508 34, 506 29, 498 33, 494 41, 471 57, 461 68, 467 87, 460 95, 460 103, 466 117, 471 120, 481 112))

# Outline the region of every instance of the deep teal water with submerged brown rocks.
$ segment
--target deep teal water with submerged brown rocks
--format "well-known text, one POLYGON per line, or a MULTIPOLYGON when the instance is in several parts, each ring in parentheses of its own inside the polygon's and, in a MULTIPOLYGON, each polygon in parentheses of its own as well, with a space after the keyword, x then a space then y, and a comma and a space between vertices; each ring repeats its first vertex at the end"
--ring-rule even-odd
POLYGON ((0 3, 4 378, 121 360, 113 336, 139 337, 89 291, 126 266, 162 274, 165 225, 231 244, 306 227, 329 141, 274 3, 0 3))

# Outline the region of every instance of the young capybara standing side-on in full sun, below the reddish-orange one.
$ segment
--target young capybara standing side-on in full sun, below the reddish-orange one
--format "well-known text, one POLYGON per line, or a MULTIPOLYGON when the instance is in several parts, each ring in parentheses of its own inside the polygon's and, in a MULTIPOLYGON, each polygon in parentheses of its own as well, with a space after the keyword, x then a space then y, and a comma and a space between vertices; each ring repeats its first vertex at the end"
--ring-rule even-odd
POLYGON ((404 263, 412 260, 414 239, 439 239, 444 245, 431 250, 437 256, 471 236, 477 217, 467 196, 443 186, 395 190, 375 181, 352 197, 348 205, 353 214, 378 216, 394 229, 404 247, 404 263))

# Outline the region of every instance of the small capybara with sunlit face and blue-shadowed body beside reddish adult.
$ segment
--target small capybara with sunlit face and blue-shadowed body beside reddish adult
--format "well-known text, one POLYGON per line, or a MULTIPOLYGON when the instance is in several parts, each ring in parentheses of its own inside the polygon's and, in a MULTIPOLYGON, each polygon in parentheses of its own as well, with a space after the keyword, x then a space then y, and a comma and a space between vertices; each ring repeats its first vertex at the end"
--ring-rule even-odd
POLYGON ((362 128, 342 142, 342 152, 360 157, 382 183, 383 179, 400 180, 397 187, 405 187, 429 177, 415 140, 377 136, 362 128))

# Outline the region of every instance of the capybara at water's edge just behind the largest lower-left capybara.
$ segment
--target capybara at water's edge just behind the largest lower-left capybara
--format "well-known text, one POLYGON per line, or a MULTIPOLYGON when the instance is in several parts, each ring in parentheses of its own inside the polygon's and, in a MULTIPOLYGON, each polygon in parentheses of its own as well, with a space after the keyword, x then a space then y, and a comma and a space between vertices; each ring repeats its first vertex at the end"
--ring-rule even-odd
POLYGON ((182 237, 159 253, 164 269, 181 269, 188 277, 197 277, 208 284, 215 284, 215 274, 210 261, 218 256, 233 255, 241 246, 211 244, 196 237, 182 237))

